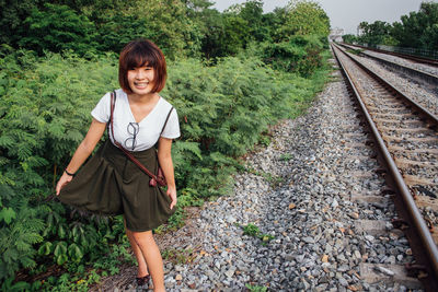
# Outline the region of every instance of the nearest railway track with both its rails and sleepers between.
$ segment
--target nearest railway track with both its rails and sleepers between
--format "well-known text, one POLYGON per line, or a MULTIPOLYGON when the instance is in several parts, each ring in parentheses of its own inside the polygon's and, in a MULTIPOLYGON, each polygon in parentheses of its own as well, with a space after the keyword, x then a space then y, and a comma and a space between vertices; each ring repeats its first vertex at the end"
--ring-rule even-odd
POLYGON ((358 96, 364 116, 379 145, 379 159, 395 191, 395 205, 416 256, 407 267, 427 290, 438 291, 438 120, 427 109, 401 94, 350 54, 333 46, 358 96))

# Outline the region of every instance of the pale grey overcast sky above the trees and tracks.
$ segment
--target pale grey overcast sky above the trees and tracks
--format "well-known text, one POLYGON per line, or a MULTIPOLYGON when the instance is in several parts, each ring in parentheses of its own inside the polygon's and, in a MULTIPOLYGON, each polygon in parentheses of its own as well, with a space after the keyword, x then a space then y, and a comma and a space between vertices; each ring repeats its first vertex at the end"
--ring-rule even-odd
MULTIPOLYGON (((437 2, 438 0, 428 1, 437 2)), ((244 3, 246 0, 211 0, 214 8, 223 11, 232 4, 244 3)), ((264 0, 264 11, 270 12, 276 7, 285 7, 288 0, 264 0)), ((346 34, 356 34, 357 25, 366 21, 400 21, 401 15, 418 11, 426 0, 315 0, 327 13, 332 28, 344 28, 346 34)))

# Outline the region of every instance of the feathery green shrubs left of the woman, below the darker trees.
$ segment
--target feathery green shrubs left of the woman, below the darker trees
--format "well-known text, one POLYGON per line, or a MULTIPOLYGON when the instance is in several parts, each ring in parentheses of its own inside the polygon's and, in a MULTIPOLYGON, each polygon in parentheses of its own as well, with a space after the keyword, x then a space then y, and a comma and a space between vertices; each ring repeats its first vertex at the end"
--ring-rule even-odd
POLYGON ((35 61, 22 51, 2 58, 1 68, 0 278, 47 257, 58 265, 97 257, 115 226, 68 218, 62 206, 45 199, 115 79, 114 59, 48 55, 35 61))

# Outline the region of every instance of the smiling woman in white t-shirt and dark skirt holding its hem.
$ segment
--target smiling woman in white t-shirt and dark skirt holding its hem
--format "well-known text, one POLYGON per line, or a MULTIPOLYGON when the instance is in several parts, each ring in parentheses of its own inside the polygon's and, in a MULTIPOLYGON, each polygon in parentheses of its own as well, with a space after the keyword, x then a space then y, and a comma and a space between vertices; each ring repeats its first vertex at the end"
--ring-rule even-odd
POLYGON ((180 125, 176 110, 159 95, 165 78, 164 56, 153 43, 138 39, 127 44, 119 57, 122 89, 113 93, 113 115, 112 93, 107 93, 91 112, 90 129, 56 187, 65 203, 95 213, 124 214, 138 262, 137 283, 148 284, 151 276, 154 291, 164 291, 164 272, 152 229, 166 221, 176 205, 171 147, 172 139, 180 137, 180 125), (111 141, 74 175, 107 126, 111 141), (115 145, 117 142, 154 174, 159 163, 168 182, 166 191, 150 186, 150 177, 115 145), (157 142, 158 152, 153 148, 157 142))

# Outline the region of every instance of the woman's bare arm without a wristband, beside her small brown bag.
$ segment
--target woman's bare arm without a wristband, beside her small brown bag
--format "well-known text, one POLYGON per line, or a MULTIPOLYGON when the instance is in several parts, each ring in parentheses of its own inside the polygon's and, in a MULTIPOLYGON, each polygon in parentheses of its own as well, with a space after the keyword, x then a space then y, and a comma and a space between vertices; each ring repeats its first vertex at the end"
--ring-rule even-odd
POLYGON ((158 161, 168 182, 168 196, 172 199, 171 209, 176 205, 175 174, 172 162, 172 139, 160 137, 158 144, 158 161))

